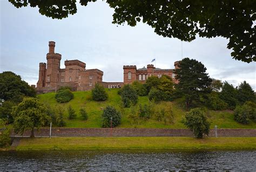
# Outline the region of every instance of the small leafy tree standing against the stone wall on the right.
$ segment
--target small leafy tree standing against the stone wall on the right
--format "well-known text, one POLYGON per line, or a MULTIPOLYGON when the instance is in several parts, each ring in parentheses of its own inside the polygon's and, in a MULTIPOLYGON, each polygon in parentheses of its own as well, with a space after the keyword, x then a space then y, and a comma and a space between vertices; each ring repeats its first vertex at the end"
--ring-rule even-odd
POLYGON ((203 138, 204 134, 208 135, 210 132, 210 123, 207 121, 204 111, 198 107, 186 112, 184 124, 197 138, 203 138))

